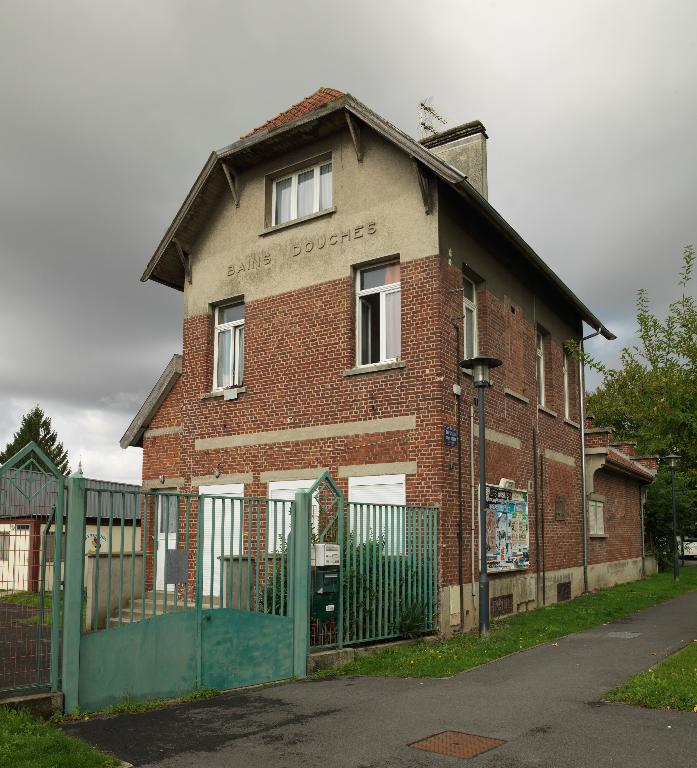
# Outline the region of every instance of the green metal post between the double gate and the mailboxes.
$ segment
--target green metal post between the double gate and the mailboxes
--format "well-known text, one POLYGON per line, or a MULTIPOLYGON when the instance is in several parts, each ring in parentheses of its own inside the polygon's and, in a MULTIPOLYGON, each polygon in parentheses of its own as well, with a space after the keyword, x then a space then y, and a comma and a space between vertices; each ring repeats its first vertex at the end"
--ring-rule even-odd
POLYGON ((293 675, 307 675, 310 651, 310 515, 312 497, 307 491, 295 494, 291 511, 292 576, 291 605, 293 617, 293 675))

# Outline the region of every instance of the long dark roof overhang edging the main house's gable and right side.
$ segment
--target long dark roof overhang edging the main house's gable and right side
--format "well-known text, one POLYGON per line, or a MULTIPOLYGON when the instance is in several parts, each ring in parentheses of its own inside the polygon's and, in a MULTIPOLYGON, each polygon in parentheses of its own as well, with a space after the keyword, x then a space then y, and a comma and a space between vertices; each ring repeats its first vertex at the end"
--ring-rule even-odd
POLYGON ((245 170, 290 149, 310 144, 323 136, 343 130, 347 127, 347 114, 360 120, 454 189, 521 253, 540 277, 549 281, 570 302, 582 320, 606 339, 616 338, 491 203, 479 194, 462 172, 441 160, 350 94, 334 99, 324 107, 315 109, 289 123, 258 131, 248 138, 240 139, 217 152, 212 152, 150 259, 141 280, 143 282, 155 280, 177 290, 183 290, 186 266, 182 262, 180 249, 191 249, 212 203, 228 188, 231 181, 230 173, 245 170))

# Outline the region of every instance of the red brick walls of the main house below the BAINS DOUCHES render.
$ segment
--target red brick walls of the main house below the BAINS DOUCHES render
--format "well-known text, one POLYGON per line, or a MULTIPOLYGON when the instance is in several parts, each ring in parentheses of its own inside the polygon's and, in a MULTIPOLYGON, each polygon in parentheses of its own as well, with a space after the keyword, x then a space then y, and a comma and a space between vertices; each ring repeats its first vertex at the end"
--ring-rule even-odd
MULTIPOLYGON (((267 486, 259 475, 269 470, 328 467, 337 477, 342 465, 414 461, 418 474, 407 477, 407 501, 441 506, 439 580, 441 586, 458 583, 458 450, 444 446, 443 427, 456 425, 452 385, 455 361, 462 351, 456 354, 453 323, 461 323, 461 276, 458 265, 438 256, 403 263, 402 359, 406 368, 359 376, 343 375, 355 365, 355 298, 350 276, 247 303, 246 391, 231 401, 203 397, 212 386, 212 317, 187 318, 182 377, 150 425, 181 425, 182 433, 145 439, 144 479, 160 474, 181 476, 185 480, 182 490, 189 490, 191 477, 211 475, 216 469, 222 474, 252 473, 253 481, 245 486, 245 493, 266 496, 267 486), (198 438, 408 415, 416 417, 413 431, 194 450, 198 438)), ((487 391, 487 427, 509 443, 487 441, 487 481, 498 483, 506 477, 517 488, 532 484, 539 489, 537 499, 534 490, 529 494, 532 572, 580 566, 583 456, 579 429, 563 418, 564 340, 547 337, 549 413, 537 407, 533 319, 508 297, 492 293, 486 284, 479 287, 477 301, 480 352, 504 361, 493 371, 493 387, 487 391), (504 388, 511 394, 505 394, 504 388)), ((569 367, 569 383, 570 417, 578 421, 576 365, 569 367)), ((469 424, 474 389, 471 378, 464 374, 461 385, 462 565, 464 580, 469 581, 469 424)), ((607 444, 610 437, 603 434, 591 439, 607 444)), ((476 452, 476 439, 474 447, 476 452)), ((475 485, 477 467, 475 462, 475 485)), ((348 493, 348 481, 338 482, 348 493)), ((195 509, 193 512, 195 519, 195 509)), ((640 536, 638 528, 635 533, 640 536)))

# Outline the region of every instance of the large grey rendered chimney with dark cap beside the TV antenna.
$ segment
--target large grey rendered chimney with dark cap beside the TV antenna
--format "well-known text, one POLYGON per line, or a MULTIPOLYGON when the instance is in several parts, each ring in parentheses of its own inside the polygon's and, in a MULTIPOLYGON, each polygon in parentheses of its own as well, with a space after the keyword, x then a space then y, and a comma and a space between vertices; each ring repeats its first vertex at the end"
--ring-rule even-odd
POLYGON ((450 163, 467 176, 469 183, 483 197, 489 197, 486 178, 486 128, 473 120, 471 123, 441 131, 421 139, 426 149, 450 163))

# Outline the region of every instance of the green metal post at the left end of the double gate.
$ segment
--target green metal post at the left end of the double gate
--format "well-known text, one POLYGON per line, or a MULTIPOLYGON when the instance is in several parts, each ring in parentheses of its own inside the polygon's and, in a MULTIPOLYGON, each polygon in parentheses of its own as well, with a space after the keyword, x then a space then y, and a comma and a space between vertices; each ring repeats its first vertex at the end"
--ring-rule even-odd
POLYGON ((68 515, 63 594, 63 696, 66 712, 79 704, 80 636, 82 634, 82 587, 85 567, 85 478, 67 480, 68 515))

